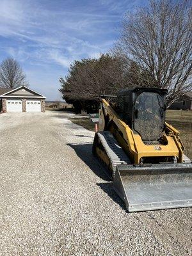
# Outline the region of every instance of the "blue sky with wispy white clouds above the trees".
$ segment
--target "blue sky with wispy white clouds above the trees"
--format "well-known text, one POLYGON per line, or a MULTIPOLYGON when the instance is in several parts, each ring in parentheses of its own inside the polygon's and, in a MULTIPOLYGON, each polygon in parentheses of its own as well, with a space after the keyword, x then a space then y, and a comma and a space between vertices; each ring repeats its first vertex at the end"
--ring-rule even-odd
POLYGON ((1 0, 0 61, 19 61, 30 87, 61 99, 59 77, 70 63, 108 52, 126 11, 147 0, 1 0))

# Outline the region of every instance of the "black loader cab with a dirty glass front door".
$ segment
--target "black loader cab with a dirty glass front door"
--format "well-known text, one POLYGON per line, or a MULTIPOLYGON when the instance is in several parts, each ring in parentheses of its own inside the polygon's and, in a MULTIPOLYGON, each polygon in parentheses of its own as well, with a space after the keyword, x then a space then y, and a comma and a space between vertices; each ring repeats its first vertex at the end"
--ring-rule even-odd
POLYGON ((163 135, 166 92, 155 88, 134 88, 118 93, 116 112, 146 144, 157 144, 163 135))

